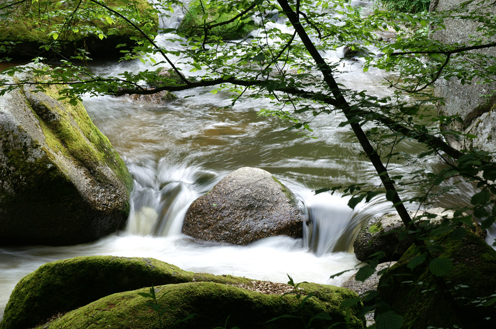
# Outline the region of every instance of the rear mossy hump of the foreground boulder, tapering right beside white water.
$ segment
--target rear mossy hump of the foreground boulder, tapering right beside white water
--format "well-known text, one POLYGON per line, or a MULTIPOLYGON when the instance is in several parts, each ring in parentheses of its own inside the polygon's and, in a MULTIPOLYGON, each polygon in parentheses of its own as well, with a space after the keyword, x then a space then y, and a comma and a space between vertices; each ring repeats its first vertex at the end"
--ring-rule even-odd
POLYGON ((116 292, 194 281, 253 285, 244 278, 186 272, 153 258, 75 257, 44 264, 22 278, 10 295, 0 329, 31 328, 116 292))

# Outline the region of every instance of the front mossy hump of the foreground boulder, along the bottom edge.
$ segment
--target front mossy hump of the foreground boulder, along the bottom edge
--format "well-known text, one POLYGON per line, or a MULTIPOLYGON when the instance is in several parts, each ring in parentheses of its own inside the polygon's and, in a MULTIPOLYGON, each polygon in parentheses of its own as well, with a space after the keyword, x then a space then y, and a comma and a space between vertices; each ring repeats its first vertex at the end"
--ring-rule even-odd
MULTIPOLYGON (((325 288, 320 288, 323 290, 325 288)), ((350 325, 345 325, 346 312, 339 309, 343 297, 336 295, 336 303, 310 297, 300 308, 301 300, 295 295, 269 295, 214 282, 190 282, 156 287, 161 305, 174 307, 166 311, 162 322, 146 303, 150 298, 138 295, 148 292, 148 288, 128 291, 104 297, 77 310, 67 313, 50 324, 49 328, 302 328, 301 320, 280 319, 265 323, 281 315, 302 317, 307 323, 312 316, 325 312, 332 321, 314 320, 312 328, 327 328, 333 323, 341 324, 333 328, 365 328, 364 319, 356 317, 358 307, 351 310, 350 325), (186 322, 187 316, 195 314, 186 322)), ((315 291, 321 295, 332 291, 315 291)))

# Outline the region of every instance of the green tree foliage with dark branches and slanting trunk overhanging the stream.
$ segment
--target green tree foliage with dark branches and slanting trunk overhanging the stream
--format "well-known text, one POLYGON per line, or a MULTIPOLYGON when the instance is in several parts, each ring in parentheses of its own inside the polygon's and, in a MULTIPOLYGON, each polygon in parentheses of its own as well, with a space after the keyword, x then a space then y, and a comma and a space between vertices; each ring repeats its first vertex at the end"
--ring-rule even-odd
MULTIPOLYGON (((43 2, 10 1, 1 6, 0 13, 14 11, 19 3, 26 1, 43 2)), ((459 309, 459 301, 453 299, 442 279, 451 269, 452 262, 435 258, 424 241, 432 235, 471 224, 472 217, 479 220, 483 228, 493 225, 496 219, 496 208, 492 207, 496 194, 496 167, 493 154, 476 149, 458 150, 445 142, 447 136, 459 139, 474 136, 440 129, 461 118, 435 113, 432 104, 441 100, 434 97, 432 87, 441 79, 456 79, 461 84, 495 82, 494 58, 476 50, 496 46, 491 42, 496 21, 487 10, 496 1, 469 0, 445 12, 408 13, 381 10, 376 6, 365 15, 345 0, 194 0, 189 5, 196 6, 196 11, 201 8, 194 33, 185 26, 164 27, 158 32, 143 28, 139 17, 129 19, 125 12, 107 6, 103 0, 54 2, 63 2, 65 6, 72 6, 74 13, 93 15, 93 18, 97 11, 80 10, 81 4, 91 3, 103 8, 106 14, 101 21, 109 27, 117 20, 125 21, 139 32, 139 36, 135 37, 137 45, 131 51, 123 52, 123 59, 139 58, 148 65, 144 71, 122 72, 117 76, 99 76, 72 59, 62 60, 54 65, 54 70, 48 70, 46 66, 35 70, 44 77, 44 82, 38 83, 40 88, 46 84, 69 86, 61 94, 62 98, 74 99, 81 94, 153 94, 195 88, 208 88, 214 94, 226 90, 232 95, 231 106, 244 98, 267 99, 268 105, 260 110, 260 115, 279 116, 290 123, 290 129, 310 136, 313 118, 341 113, 341 125, 353 130, 381 184, 373 186, 358 182, 328 189, 342 189, 346 195, 351 195, 350 207, 364 199, 369 201, 377 194, 385 194, 408 232, 414 235, 418 256, 412 259, 409 267, 428 266, 439 292, 455 310, 459 309), (214 10, 216 15, 209 15, 209 10, 214 10), (229 15, 223 15, 227 13, 229 15), (476 22, 480 34, 452 44, 429 37, 433 31, 444 28, 446 19, 453 17, 476 22), (275 24, 281 21, 285 22, 284 29, 275 24), (256 33, 246 34, 239 40, 227 40, 214 33, 220 27, 225 27, 225 33, 240 28, 256 33), (394 31, 396 37, 391 42, 384 42, 381 34, 390 31, 394 31), (158 33, 166 36, 168 43, 159 43, 158 33), (350 90, 339 84, 336 78, 341 74, 343 63, 331 60, 325 54, 342 47, 351 47, 361 54, 364 71, 371 68, 390 71, 396 78, 385 83, 395 92, 391 96, 378 97, 366 90, 350 90), (164 66, 176 74, 161 74, 164 66), (398 145, 406 141, 423 146, 410 153, 398 150, 398 145), (397 169, 397 163, 411 164, 429 158, 437 158, 442 163, 441 169, 409 174, 397 169), (412 218, 404 204, 414 202, 420 208, 435 202, 440 194, 456 188, 462 181, 479 188, 471 198, 472 205, 456 209, 454 218, 446 219, 437 231, 419 230, 418 218, 412 218)), ((177 0, 154 2, 153 14, 169 17, 174 11, 188 12, 188 8, 177 0)), ((58 30, 48 34, 57 40, 56 36, 62 35, 67 24, 70 24, 69 18, 60 22, 58 30)), ((74 29, 72 32, 77 33, 74 29)), ((99 31, 94 33, 100 38, 99 31)), ((100 39, 106 37, 103 34, 100 39)), ((91 54, 86 53, 84 60, 90 57, 91 54)), ((81 60, 82 57, 79 55, 74 59, 81 60)), ((19 70, 22 68, 12 67, 6 72, 14 75, 19 70)), ((31 82, 3 83, 0 94, 26 83, 31 82)), ((458 231, 461 234, 457 238, 463 237, 462 231, 458 231)), ((375 265, 377 261, 372 261, 362 268, 361 279, 373 274, 375 265)), ((463 321, 460 318, 462 325, 463 321)), ((377 326, 381 328, 399 328, 401 324, 400 317, 390 310, 377 317, 377 326)))

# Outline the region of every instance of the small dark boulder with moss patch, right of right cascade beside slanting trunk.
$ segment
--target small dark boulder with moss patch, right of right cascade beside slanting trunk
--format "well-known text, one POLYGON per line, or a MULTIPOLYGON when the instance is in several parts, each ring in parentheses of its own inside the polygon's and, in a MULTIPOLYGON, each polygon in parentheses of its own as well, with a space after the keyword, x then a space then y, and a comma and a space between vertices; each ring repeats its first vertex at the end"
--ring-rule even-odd
MULTIPOLYGON (((453 217, 453 211, 445 211, 443 208, 428 209, 428 212, 435 214, 436 217, 422 220, 421 225, 430 225, 433 221, 438 223, 444 215, 453 217)), ((410 215, 414 214, 410 213, 410 215)), ((383 251, 384 257, 379 259, 379 262, 398 260, 413 243, 412 238, 405 235, 405 230, 398 214, 388 214, 371 219, 362 226, 353 242, 355 256, 358 260, 365 262, 370 260, 370 255, 383 251)))

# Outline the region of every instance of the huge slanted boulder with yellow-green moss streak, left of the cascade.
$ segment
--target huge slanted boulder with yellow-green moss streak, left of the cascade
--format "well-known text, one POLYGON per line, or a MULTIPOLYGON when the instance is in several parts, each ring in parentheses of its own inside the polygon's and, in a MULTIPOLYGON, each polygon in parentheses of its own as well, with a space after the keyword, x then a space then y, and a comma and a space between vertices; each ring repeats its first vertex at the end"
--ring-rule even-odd
MULTIPOLYGON (((36 68, 6 78, 34 82, 36 68)), ((125 226, 132 178, 81 102, 58 100, 61 89, 0 96, 0 245, 77 244, 125 226)))

